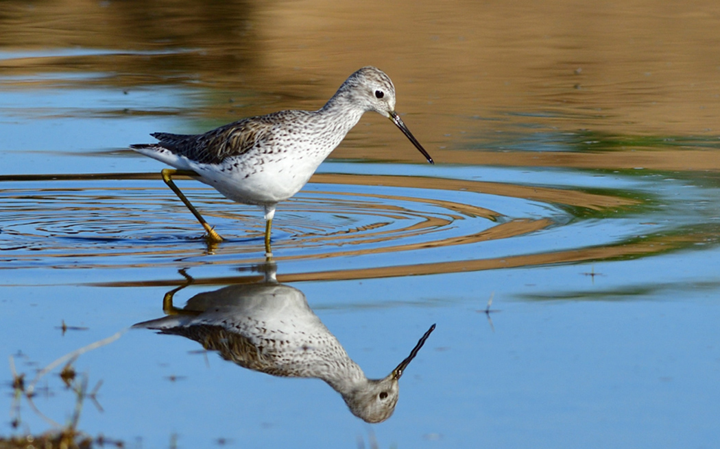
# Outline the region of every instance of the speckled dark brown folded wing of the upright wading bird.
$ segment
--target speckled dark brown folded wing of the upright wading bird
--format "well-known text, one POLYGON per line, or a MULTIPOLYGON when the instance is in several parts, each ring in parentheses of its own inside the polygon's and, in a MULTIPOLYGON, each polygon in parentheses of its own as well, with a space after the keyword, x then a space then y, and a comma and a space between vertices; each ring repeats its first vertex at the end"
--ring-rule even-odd
MULTIPOLYGON (((275 115, 275 114, 271 114, 275 115)), ((158 146, 201 164, 220 164, 227 157, 240 156, 261 142, 271 131, 269 116, 251 117, 220 126, 205 134, 151 134, 158 146)))

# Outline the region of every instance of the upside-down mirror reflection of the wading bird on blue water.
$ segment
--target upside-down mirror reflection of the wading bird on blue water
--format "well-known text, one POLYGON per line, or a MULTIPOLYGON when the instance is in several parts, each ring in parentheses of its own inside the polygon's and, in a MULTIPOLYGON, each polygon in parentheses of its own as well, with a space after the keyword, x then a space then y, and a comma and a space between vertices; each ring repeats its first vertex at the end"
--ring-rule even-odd
POLYGON ((387 420, 397 404, 402 372, 435 325, 384 379, 367 379, 312 312, 305 295, 277 282, 276 265, 269 262, 259 268, 264 271, 261 282, 200 293, 182 309, 172 305, 172 297, 180 289, 172 290, 163 300, 168 316, 133 327, 182 335, 244 368, 274 376, 323 379, 357 417, 366 422, 387 420))

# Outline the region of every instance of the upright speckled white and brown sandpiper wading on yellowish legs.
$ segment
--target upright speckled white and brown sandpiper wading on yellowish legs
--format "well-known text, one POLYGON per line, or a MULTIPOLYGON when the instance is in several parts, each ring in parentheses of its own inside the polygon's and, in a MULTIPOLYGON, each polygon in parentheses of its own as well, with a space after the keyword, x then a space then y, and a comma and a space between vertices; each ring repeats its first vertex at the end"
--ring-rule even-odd
POLYGON ((395 112, 395 86, 382 70, 364 67, 340 86, 318 111, 279 111, 220 126, 204 134, 151 134, 156 144, 130 148, 165 162, 163 180, 207 232, 222 237, 177 188, 173 175, 189 175, 222 195, 265 209, 265 251, 271 256, 270 229, 279 201, 297 193, 323 160, 367 111, 387 117, 413 142, 428 162, 433 159, 395 112))

